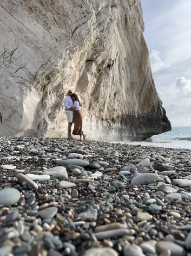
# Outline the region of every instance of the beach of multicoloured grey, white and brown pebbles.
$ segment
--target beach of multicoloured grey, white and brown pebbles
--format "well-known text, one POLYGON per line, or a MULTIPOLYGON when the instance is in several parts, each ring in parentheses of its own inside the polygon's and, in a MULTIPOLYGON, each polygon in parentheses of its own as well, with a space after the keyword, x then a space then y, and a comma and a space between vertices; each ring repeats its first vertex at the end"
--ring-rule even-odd
POLYGON ((0 256, 191 256, 191 150, 0 137, 0 256))

